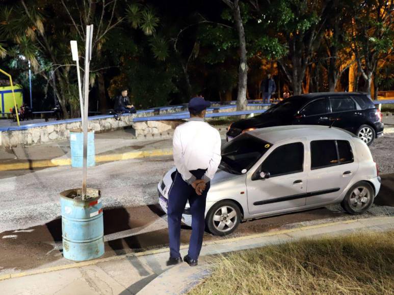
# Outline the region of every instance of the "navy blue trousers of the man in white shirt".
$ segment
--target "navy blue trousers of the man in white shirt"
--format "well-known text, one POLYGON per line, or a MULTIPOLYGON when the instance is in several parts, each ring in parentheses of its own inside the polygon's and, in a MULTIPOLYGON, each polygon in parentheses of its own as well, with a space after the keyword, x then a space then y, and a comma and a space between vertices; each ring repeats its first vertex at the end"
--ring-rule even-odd
MULTIPOLYGON (((197 179, 201 179, 206 170, 198 169, 190 171, 197 179)), ((182 176, 176 171, 174 182, 168 194, 168 234, 170 238, 170 256, 180 257, 180 221, 186 202, 189 200, 190 211, 192 214, 192 235, 189 242, 190 258, 197 260, 200 255, 202 246, 202 236, 205 229, 205 202, 210 183, 202 195, 196 194, 191 185, 182 179, 182 176)))

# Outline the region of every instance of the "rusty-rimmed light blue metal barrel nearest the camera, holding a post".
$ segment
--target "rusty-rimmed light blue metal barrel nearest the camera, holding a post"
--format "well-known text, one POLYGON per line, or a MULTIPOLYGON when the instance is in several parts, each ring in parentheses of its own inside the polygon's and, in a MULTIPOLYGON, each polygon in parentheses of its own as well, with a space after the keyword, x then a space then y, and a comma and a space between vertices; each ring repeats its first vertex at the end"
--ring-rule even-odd
POLYGON ((104 254, 104 226, 101 192, 87 189, 88 200, 74 199, 81 189, 62 192, 63 256, 72 261, 86 261, 104 254))

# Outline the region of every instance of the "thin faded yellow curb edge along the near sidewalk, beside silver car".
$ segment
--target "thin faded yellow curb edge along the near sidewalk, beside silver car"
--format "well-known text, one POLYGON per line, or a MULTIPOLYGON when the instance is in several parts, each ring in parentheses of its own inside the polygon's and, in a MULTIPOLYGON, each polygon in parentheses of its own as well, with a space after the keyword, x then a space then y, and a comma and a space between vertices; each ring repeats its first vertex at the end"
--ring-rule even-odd
MULTIPOLYGON (((355 223, 355 222, 359 222, 359 221, 362 222, 365 220, 377 220, 377 219, 383 219, 383 220, 392 219, 392 220, 394 220, 394 217, 392 217, 392 216, 374 217, 374 218, 361 218, 361 219, 351 219, 351 220, 345 220, 345 221, 328 222, 328 223, 322 223, 322 224, 316 224, 316 225, 308 225, 308 226, 303 226, 303 227, 278 230, 278 231, 273 231, 273 232, 263 232, 263 233, 251 234, 251 235, 246 235, 245 237, 222 239, 220 241, 211 241, 211 242, 203 243, 202 245, 209 246, 209 245, 217 245, 217 244, 227 244, 227 243, 244 241, 244 240, 253 240, 253 239, 262 238, 262 237, 270 237, 273 235, 280 235, 280 234, 286 234, 286 233, 291 233, 291 232, 305 231, 305 230, 309 230, 309 229, 323 228, 323 227, 335 226, 335 225, 339 225, 339 224, 349 224, 349 223, 355 223)), ((188 247, 189 247, 189 245, 181 245, 180 249, 186 249, 188 247)), ((37 269, 37 270, 29 271, 29 272, 5 274, 5 275, 0 276, 0 281, 7 280, 7 279, 13 279, 13 278, 19 278, 19 277, 25 277, 25 276, 31 276, 31 275, 38 275, 38 274, 43 274, 43 273, 49 273, 49 272, 55 272, 55 271, 61 271, 61 270, 67 270, 67 269, 82 268, 82 267, 86 267, 88 265, 93 265, 93 264, 112 261, 112 260, 119 260, 119 259, 123 259, 123 258, 127 258, 127 257, 141 257, 141 256, 166 253, 166 252, 169 252, 168 247, 147 250, 147 251, 137 252, 137 253, 129 253, 129 254, 124 254, 124 255, 119 255, 119 256, 112 256, 112 257, 107 257, 107 258, 99 258, 99 259, 83 261, 83 262, 74 262, 71 264, 58 265, 56 267, 51 267, 51 268, 46 268, 46 269, 37 269)))

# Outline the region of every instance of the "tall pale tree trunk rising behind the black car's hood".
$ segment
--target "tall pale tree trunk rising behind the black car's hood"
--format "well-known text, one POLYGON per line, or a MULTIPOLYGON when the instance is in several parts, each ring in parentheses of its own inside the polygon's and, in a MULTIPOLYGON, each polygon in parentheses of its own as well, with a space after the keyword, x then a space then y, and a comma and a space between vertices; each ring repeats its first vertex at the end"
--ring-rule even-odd
POLYGON ((238 0, 234 0, 234 19, 237 26, 238 38, 240 42, 240 67, 238 73, 238 95, 237 95, 237 110, 245 110, 246 101, 246 88, 248 83, 248 64, 246 58, 246 40, 244 25, 241 19, 241 10, 238 0))

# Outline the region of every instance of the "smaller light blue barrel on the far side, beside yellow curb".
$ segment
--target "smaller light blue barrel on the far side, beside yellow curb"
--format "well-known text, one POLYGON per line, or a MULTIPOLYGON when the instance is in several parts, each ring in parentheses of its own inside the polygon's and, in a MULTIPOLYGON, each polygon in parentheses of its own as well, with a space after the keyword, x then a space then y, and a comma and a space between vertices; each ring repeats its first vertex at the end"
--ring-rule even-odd
MULTIPOLYGON (((84 159, 84 133, 81 130, 70 131, 71 166, 82 167, 84 159)), ((88 132, 88 167, 96 165, 94 150, 94 131, 88 132)))

